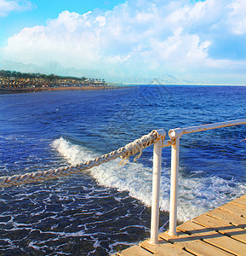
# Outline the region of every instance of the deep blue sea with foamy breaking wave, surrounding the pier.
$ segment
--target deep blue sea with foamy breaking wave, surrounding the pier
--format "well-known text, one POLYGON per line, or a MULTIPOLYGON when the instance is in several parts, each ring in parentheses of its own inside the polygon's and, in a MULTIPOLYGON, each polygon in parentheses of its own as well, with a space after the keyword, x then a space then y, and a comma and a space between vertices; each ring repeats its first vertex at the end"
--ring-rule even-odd
MULTIPOLYGON (((91 160, 148 134, 246 118, 246 87, 135 85, 0 94, 0 174, 91 160)), ((180 138, 178 221, 246 194, 246 125, 180 138)), ((152 151, 0 189, 1 255, 110 255, 150 236, 152 151)), ((159 231, 169 229, 163 148, 159 231)))

